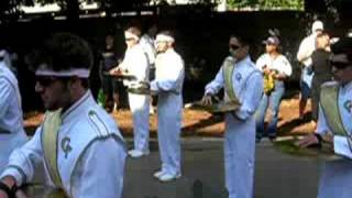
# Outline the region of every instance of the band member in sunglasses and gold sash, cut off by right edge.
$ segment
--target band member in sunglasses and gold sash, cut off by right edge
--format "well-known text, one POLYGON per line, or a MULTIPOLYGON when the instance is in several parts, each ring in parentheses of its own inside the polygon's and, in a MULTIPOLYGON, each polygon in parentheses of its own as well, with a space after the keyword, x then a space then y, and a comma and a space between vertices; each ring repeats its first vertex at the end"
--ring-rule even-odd
POLYGON ((352 38, 331 46, 330 65, 336 81, 322 85, 315 134, 299 142, 301 147, 324 143, 343 157, 324 163, 318 198, 350 198, 352 195, 352 38))

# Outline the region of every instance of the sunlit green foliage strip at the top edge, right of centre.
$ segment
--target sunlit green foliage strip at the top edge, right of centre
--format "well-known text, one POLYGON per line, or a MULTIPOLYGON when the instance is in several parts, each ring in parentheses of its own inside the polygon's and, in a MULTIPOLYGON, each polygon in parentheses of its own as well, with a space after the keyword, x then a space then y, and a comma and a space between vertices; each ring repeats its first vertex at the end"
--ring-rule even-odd
POLYGON ((229 9, 304 10, 304 0, 228 0, 229 9))

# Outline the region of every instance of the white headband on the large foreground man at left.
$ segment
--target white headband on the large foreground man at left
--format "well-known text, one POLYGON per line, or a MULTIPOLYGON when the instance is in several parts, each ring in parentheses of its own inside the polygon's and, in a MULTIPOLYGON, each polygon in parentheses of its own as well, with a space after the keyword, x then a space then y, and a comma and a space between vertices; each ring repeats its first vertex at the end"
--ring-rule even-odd
POLYGON ((54 76, 54 77, 72 77, 77 76, 79 78, 88 78, 89 77, 89 69, 87 68, 72 68, 68 70, 53 70, 46 68, 46 65, 40 66, 40 68, 35 72, 36 76, 54 76))

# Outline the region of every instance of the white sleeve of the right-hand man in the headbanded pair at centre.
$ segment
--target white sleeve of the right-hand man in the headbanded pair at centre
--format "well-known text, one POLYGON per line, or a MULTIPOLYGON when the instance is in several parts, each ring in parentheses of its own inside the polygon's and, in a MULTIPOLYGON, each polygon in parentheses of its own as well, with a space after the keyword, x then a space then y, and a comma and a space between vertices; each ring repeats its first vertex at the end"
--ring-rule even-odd
POLYGON ((182 84, 184 76, 184 63, 180 58, 174 58, 169 62, 169 73, 168 76, 162 79, 155 79, 151 82, 151 90, 154 91, 179 91, 179 84, 182 84))

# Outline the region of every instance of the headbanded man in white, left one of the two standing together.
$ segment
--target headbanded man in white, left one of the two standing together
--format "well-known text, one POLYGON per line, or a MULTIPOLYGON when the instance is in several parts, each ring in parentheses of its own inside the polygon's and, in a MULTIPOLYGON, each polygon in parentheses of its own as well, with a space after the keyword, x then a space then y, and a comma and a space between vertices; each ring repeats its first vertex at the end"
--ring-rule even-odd
MULTIPOLYGON (((124 32, 125 44, 128 46, 122 63, 110 70, 110 74, 128 74, 135 77, 133 80, 124 80, 128 88, 138 88, 142 82, 148 82, 148 59, 139 44, 141 31, 136 26, 131 26, 124 32)), ((134 148, 129 151, 130 156, 141 157, 150 154, 150 96, 129 91, 129 103, 132 111, 134 148)))

